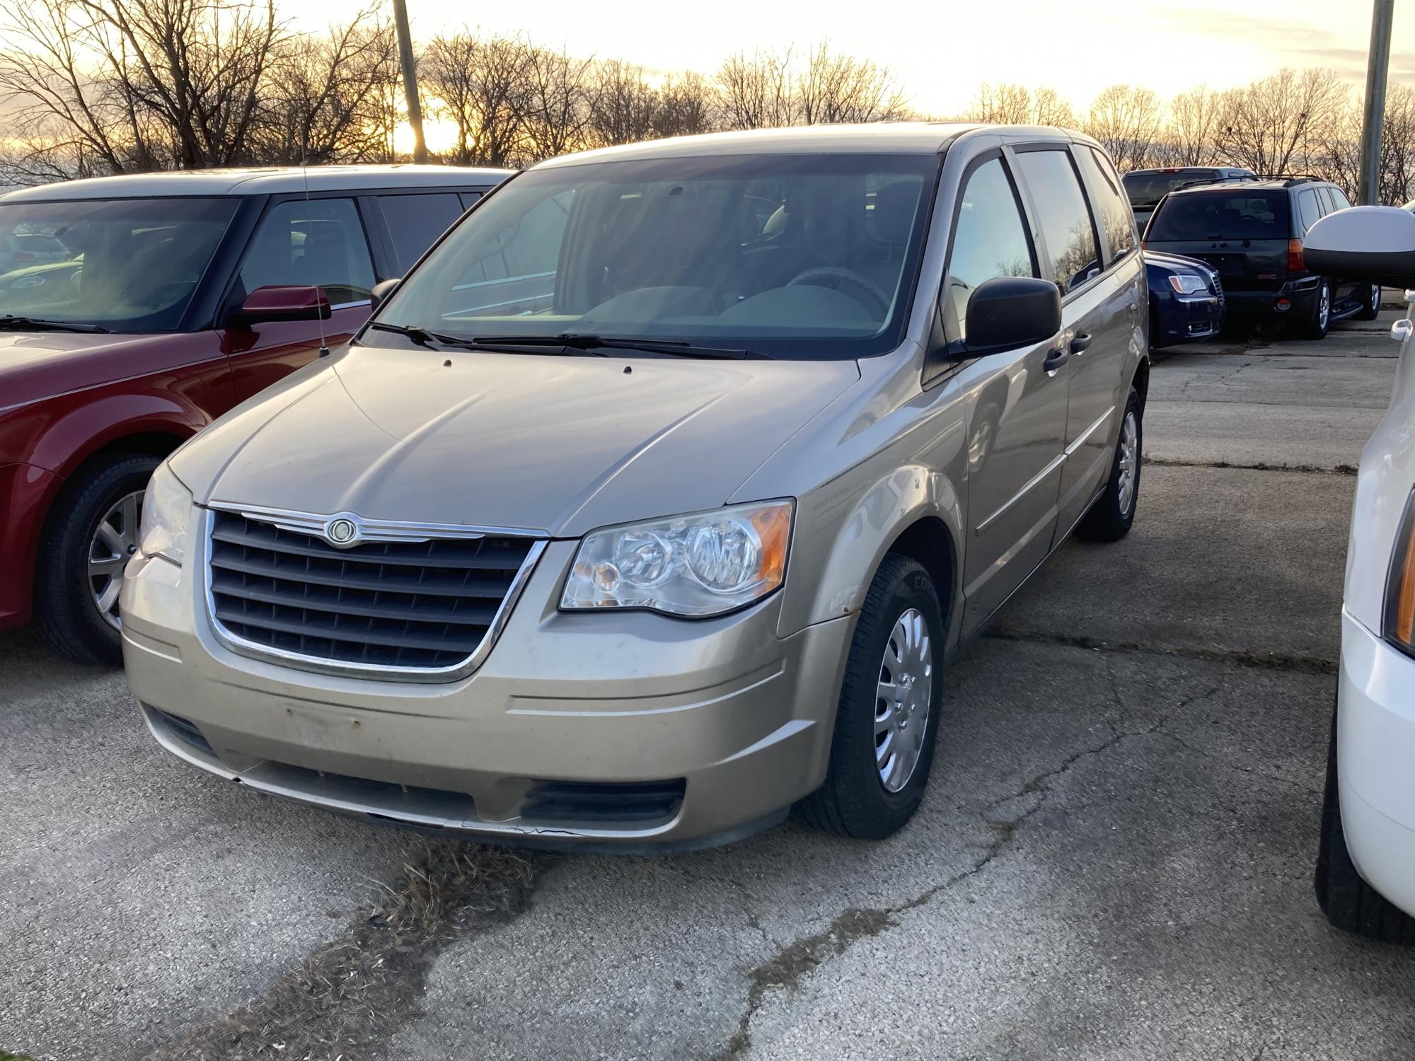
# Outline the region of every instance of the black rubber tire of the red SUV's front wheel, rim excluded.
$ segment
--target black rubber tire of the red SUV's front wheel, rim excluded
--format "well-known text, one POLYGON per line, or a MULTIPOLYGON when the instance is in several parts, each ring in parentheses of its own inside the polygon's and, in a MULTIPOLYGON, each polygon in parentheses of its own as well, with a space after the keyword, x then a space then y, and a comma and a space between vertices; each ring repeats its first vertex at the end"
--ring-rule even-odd
POLYGON ((89 547, 109 508, 143 489, 158 463, 140 453, 102 457, 69 480, 54 502, 35 564, 34 615, 40 639, 59 655, 81 663, 122 663, 122 638, 89 591, 89 547))

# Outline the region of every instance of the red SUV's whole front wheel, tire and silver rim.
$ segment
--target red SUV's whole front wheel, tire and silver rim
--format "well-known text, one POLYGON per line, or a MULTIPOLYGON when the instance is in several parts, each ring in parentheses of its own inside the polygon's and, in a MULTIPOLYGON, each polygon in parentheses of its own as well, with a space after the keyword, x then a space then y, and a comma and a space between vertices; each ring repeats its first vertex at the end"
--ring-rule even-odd
POLYGON ((122 662, 117 593, 137 552, 143 492, 158 460, 122 453, 72 480, 54 502, 34 580, 40 638, 81 663, 122 662))

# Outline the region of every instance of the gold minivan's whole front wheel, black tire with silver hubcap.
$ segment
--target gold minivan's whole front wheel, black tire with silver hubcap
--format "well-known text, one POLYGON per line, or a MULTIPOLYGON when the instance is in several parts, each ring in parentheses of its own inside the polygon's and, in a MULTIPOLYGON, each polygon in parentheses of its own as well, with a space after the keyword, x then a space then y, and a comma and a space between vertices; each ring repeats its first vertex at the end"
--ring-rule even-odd
POLYGON ((889 555, 845 663, 825 782, 795 806, 815 829, 882 840, 924 799, 944 695, 944 611, 923 564, 889 555))

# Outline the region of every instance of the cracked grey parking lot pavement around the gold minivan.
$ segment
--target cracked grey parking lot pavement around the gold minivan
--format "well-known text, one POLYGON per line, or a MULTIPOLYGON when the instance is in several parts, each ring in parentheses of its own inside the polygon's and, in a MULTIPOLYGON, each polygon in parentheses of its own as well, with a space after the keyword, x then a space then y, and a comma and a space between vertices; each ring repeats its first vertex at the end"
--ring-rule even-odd
POLYGON ((468 847, 474 915, 391 934, 444 852, 198 774, 120 675, 0 635, 0 1054, 1409 1058, 1415 953, 1310 883, 1395 315, 1157 356, 1133 532, 965 652, 880 845, 788 825, 511 884, 468 847))

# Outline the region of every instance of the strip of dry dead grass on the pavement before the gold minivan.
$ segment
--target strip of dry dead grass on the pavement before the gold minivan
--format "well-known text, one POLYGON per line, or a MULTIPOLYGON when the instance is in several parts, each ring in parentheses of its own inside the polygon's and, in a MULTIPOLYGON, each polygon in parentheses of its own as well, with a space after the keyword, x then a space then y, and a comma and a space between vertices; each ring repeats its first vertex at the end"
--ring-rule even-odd
POLYGON ((521 912, 538 864, 535 856, 499 847, 424 845, 342 939, 150 1061, 382 1057, 393 1034, 420 1014, 437 949, 521 912))

